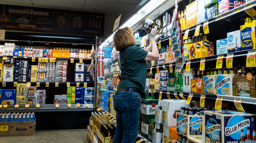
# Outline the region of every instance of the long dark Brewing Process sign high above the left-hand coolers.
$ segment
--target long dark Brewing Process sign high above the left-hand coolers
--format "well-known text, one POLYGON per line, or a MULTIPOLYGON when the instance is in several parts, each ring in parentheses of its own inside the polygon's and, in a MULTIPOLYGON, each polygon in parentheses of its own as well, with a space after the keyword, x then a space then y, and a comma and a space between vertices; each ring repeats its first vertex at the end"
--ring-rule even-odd
POLYGON ((0 5, 0 29, 104 36, 104 14, 0 5))

